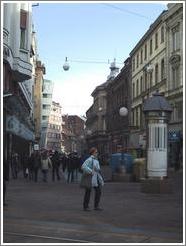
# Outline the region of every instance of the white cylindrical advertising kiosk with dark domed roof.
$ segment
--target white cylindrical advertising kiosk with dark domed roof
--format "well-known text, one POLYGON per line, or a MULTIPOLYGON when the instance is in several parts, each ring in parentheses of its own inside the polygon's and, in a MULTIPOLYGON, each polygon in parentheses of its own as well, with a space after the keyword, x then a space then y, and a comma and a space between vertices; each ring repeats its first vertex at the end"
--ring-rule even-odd
MULTIPOLYGON (((163 180, 167 176, 167 128, 172 108, 165 97, 156 92, 145 100, 143 112, 147 131, 147 180, 145 182, 149 191, 149 184, 152 184, 152 187, 155 186, 152 180, 163 180)), ((156 181, 159 188, 161 184, 158 182, 156 181)))

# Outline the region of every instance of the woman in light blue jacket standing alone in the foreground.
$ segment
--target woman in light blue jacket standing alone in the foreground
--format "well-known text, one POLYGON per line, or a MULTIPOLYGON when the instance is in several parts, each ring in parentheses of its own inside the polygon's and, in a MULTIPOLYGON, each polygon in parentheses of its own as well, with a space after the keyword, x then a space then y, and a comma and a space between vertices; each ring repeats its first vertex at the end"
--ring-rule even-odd
POLYGON ((87 158, 82 165, 82 170, 83 170, 82 178, 85 177, 86 175, 91 176, 90 187, 89 186, 85 187, 83 209, 84 211, 90 211, 89 201, 90 201, 91 190, 93 187, 95 190, 94 209, 102 210, 99 207, 99 203, 100 203, 100 198, 101 198, 101 189, 102 189, 102 186, 104 185, 104 181, 100 173, 100 165, 98 161, 97 148, 92 147, 89 153, 90 153, 90 157, 87 158))

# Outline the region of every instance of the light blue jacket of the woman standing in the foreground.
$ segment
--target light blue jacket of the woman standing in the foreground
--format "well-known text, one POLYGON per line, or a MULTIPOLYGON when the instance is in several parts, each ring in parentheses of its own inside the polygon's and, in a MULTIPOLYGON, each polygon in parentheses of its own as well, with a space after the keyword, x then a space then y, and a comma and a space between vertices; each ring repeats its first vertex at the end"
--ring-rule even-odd
POLYGON ((92 174, 92 187, 98 186, 98 181, 101 186, 104 185, 103 178, 100 172, 100 165, 98 159, 91 155, 82 165, 83 173, 92 174))

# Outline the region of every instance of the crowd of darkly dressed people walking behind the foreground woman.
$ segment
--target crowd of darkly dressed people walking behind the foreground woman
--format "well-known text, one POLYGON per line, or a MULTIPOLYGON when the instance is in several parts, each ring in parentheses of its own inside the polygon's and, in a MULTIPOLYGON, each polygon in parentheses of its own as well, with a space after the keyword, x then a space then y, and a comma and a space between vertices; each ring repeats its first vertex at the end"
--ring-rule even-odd
POLYGON ((74 182, 81 171, 82 158, 76 152, 60 154, 58 151, 49 153, 48 151, 34 150, 30 156, 22 156, 13 153, 10 160, 11 175, 13 179, 18 178, 18 173, 22 170, 24 178, 38 181, 39 170, 42 171, 43 181, 47 182, 48 172, 52 172, 52 180, 60 180, 60 168, 67 174, 67 182, 74 182))

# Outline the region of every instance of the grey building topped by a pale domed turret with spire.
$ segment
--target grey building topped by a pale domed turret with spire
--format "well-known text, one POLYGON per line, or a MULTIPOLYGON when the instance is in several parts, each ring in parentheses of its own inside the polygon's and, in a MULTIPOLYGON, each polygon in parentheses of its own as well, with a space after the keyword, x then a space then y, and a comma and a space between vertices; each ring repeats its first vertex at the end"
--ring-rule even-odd
POLYGON ((119 73, 116 60, 110 65, 107 81, 97 86, 92 92, 93 104, 86 112, 86 142, 87 150, 95 146, 98 148, 100 161, 106 163, 109 155, 109 141, 107 134, 107 87, 119 73))

